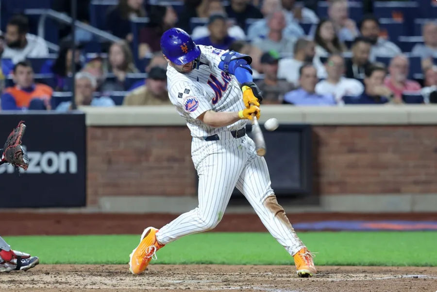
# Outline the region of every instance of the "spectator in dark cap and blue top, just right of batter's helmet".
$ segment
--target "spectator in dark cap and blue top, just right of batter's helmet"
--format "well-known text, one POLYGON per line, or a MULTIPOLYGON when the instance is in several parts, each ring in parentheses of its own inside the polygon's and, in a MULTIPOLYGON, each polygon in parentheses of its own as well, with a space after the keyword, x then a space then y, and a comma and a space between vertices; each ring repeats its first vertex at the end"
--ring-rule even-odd
POLYGON ((228 35, 226 26, 227 17, 225 14, 213 14, 208 18, 209 35, 195 39, 198 45, 213 46, 220 50, 227 50, 235 41, 235 38, 228 35))

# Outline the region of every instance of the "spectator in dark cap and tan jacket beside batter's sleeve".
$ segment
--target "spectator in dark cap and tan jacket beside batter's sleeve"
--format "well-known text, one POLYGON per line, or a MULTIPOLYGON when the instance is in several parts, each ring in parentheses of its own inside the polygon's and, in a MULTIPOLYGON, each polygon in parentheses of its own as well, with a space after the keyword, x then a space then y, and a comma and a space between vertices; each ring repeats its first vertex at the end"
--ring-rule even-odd
POLYGON ((166 69, 153 67, 146 84, 131 91, 123 100, 123 105, 171 104, 167 91, 166 69))

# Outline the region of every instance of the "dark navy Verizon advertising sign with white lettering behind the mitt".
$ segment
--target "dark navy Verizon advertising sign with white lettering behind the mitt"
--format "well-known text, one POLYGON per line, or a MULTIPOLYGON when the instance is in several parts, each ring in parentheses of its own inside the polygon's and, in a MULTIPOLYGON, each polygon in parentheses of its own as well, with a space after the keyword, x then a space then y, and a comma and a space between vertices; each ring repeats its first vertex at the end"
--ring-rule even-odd
POLYGON ((20 120, 29 168, 0 166, 0 208, 85 206, 85 115, 1 113, 0 143, 20 120))

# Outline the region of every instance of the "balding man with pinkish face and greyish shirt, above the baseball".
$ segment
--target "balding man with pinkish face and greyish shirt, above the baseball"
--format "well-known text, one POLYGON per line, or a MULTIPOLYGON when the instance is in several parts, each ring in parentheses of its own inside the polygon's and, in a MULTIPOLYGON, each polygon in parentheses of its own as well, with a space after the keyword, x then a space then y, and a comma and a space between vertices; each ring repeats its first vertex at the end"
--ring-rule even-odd
POLYGON ((272 12, 268 18, 269 33, 264 37, 257 37, 252 41, 252 44, 263 52, 276 51, 279 53, 293 52, 296 37, 291 37, 283 34, 286 27, 286 19, 284 11, 277 10, 272 12))

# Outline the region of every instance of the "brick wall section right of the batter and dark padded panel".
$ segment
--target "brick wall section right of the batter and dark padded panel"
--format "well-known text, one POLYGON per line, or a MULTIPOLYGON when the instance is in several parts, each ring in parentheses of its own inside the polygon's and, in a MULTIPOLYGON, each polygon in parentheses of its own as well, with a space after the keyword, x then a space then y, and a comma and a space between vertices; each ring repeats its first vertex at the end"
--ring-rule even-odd
POLYGON ((436 126, 316 126, 321 194, 437 193, 436 126))

